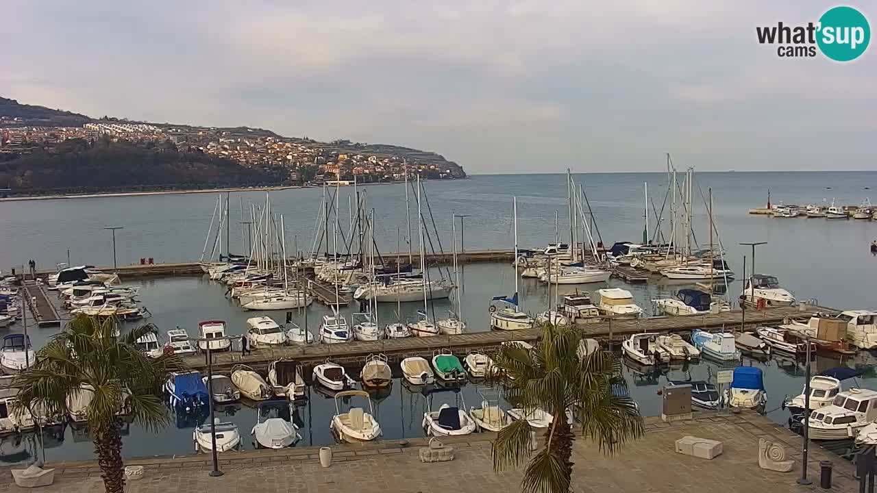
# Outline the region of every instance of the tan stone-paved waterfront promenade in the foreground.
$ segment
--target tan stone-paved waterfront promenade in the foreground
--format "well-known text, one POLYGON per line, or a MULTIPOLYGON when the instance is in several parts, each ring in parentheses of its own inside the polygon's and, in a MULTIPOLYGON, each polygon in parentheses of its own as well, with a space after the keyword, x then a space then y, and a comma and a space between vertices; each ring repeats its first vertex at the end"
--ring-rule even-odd
MULTIPOLYGON (((587 439, 577 439, 573 491, 596 493, 631 491, 637 493, 762 493, 770 491, 816 491, 818 461, 834 464, 834 491, 857 491, 852 464, 813 446, 809 452, 809 477, 815 484, 795 483, 801 475, 801 438, 767 418, 738 415, 703 414, 693 420, 672 424, 647 418, 643 439, 624 447, 615 456, 601 454, 587 439), (718 439, 724 454, 712 461, 674 453, 674 441, 685 435, 718 439), (795 468, 776 473, 758 467, 759 438, 788 445, 795 468)), ((282 451, 223 454, 220 468, 225 475, 212 478, 210 456, 154 458, 127 461, 143 465, 144 479, 130 482, 130 493, 388 493, 453 492, 486 493, 520 491, 521 474, 496 474, 490 459, 491 434, 473 434, 446 439, 456 449, 450 462, 424 464, 417 457, 423 439, 412 439, 408 447, 396 440, 366 445, 332 447, 332 467, 321 468, 318 450, 292 448, 282 451)), ((94 461, 58 462, 55 483, 37 489, 39 493, 98 493, 103 491, 100 472, 94 461)), ((25 491, 11 483, 9 468, 0 471, 0 493, 25 491)), ((28 490, 34 491, 34 490, 28 490)))

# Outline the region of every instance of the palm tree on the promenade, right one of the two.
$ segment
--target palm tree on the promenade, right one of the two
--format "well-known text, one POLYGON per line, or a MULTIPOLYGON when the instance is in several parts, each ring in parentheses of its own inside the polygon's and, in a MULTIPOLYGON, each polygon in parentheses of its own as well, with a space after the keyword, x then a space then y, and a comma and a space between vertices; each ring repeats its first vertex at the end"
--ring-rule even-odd
POLYGON ((626 389, 621 362, 608 351, 577 354, 581 331, 575 327, 545 325, 537 348, 516 344, 496 356, 504 376, 506 398, 524 409, 544 409, 553 415, 545 432, 545 447, 531 451, 531 426, 521 419, 499 432, 493 443, 494 469, 515 468, 530 459, 521 488, 525 493, 567 493, 573 474, 575 435, 567 410, 581 421, 581 432, 600 450, 614 454, 624 442, 642 436, 643 419, 626 389))

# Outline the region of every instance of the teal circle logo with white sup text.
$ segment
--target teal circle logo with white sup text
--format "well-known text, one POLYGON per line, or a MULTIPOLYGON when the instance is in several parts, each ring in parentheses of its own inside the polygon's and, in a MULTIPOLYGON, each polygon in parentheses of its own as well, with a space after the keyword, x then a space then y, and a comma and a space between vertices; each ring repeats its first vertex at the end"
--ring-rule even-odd
POLYGON ((851 61, 865 53, 871 40, 871 26, 852 7, 835 7, 819 18, 816 44, 833 61, 851 61))

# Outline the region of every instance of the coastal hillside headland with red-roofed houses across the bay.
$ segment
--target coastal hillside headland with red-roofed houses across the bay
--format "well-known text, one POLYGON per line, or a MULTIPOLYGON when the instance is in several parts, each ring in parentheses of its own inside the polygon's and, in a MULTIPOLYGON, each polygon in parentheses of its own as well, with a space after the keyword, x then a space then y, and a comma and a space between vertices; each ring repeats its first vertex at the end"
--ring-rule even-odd
POLYGON ((5 195, 466 177, 456 162, 410 147, 90 118, 4 97, 0 164, 5 195))

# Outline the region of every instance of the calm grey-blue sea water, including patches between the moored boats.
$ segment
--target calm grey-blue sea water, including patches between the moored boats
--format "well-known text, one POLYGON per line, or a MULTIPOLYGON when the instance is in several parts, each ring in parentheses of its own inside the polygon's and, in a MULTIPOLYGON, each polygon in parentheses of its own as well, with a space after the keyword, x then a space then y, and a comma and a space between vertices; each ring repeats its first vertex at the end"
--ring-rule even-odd
MULTIPOLYGON (((641 239, 645 182, 648 182, 650 198, 658 210, 667 189, 667 175, 660 173, 588 174, 574 175, 574 178, 582 184, 588 196, 596 226, 606 245, 614 241, 641 239)), ((868 244, 877 239, 877 222, 780 220, 746 214, 749 208, 765 205, 768 189, 774 204, 780 201, 786 204, 820 203, 823 199, 831 202, 832 198, 838 204, 859 204, 877 189, 877 172, 704 173, 695 175, 695 182, 695 235, 702 245, 708 241, 706 208, 701 193, 706 196, 711 188, 714 216, 727 252, 726 259, 738 277, 742 274, 743 257, 749 254, 749 247, 741 247, 738 243, 767 241, 768 244, 758 250, 759 273, 778 276, 799 299, 816 298, 820 304, 844 309, 877 307, 874 289, 877 287, 877 258, 868 251, 868 244)), ((555 211, 559 211, 561 239, 568 237, 564 175, 482 175, 465 181, 426 182, 425 189, 432 218, 446 251, 451 248, 453 214, 468 215, 465 222, 467 249, 512 247, 512 196, 517 196, 518 235, 522 247, 544 247, 553 241, 555 211)), ((407 250, 403 185, 372 186, 361 190, 367 194, 368 206, 374 208, 375 239, 381 251, 396 251, 397 242, 402 244, 403 251, 407 250)), ((343 228, 349 221, 348 196, 352 192, 353 188, 341 189, 339 203, 343 228)), ((322 189, 270 193, 272 211, 284 216, 290 251, 296 247, 297 250, 310 251, 322 195, 322 189)), ((233 223, 240 221, 241 197, 246 211, 249 211, 251 202, 263 204, 265 201, 265 194, 261 192, 233 193, 233 223)), ((877 194, 873 198, 877 200, 877 194)), ((117 232, 120 265, 137 262, 141 257, 153 257, 156 262, 197 260, 201 256, 215 203, 216 195, 210 194, 2 202, 0 268, 8 272, 13 267, 21 268, 30 259, 37 261, 38 268, 52 268, 57 262, 67 261, 68 249, 75 264, 111 265, 111 235, 103 230, 104 226, 110 225, 125 228, 117 232)), ((412 210, 412 218, 414 214, 412 210)), ((429 220, 427 211, 424 215, 429 220)), ((248 212, 245 220, 247 218, 248 212)), ((650 225, 650 228, 654 227, 652 211, 650 225)), ((246 247, 238 225, 232 227, 231 235, 232 251, 243 251, 246 247)), ((417 238, 416 225, 414 237, 417 238)), ((463 279, 463 316, 470 330, 486 330, 489 297, 513 292, 514 271, 496 264, 467 265, 463 279)), ((206 279, 186 277, 132 283, 140 287, 139 299, 153 313, 149 321, 162 330, 180 325, 194 333, 198 321, 220 318, 228 322, 230 332, 240 333, 246 318, 261 314, 240 311, 223 296, 223 287, 206 279)), ((646 310, 651 310, 652 298, 684 287, 672 283, 626 286, 616 280, 611 280, 609 285, 630 289, 638 304, 646 310)), ((590 291, 601 287, 586 285, 579 289, 590 291)), ((561 286, 561 294, 565 289, 572 292, 576 287, 561 286)), ((736 296, 739 289, 739 282, 734 282, 729 291, 736 296)), ((548 300, 543 286, 522 280, 519 290, 527 311, 544 309, 548 300)), ((418 307, 418 304, 403 304, 402 313, 398 314, 395 305, 381 304, 380 322, 409 318, 418 307)), ((434 305, 439 317, 450 308, 446 300, 434 305)), ((308 312, 309 325, 315 327, 318 318, 326 311, 324 306, 314 304, 308 312)), ((282 321, 281 312, 270 315, 282 321)), ((303 322, 302 314, 296 314, 296 318, 299 323, 303 322)), ((11 332, 18 331, 20 324, 11 327, 11 332)), ((46 338, 57 332, 57 328, 31 328, 29 332, 34 346, 40 347, 46 338)), ((838 364, 855 366, 872 362, 870 354, 859 354, 850 361, 820 358, 816 361, 815 371, 838 364)), ((769 411, 779 408, 786 395, 801 391, 802 364, 783 360, 746 361, 745 364, 765 369, 769 411)), ((634 368, 625 368, 625 375, 643 413, 655 415, 660 413, 660 398, 655 392, 667 377, 715 381, 718 369, 713 363, 702 362, 688 368, 672 368, 663 375, 643 375, 634 368)), ((872 378, 866 376, 859 384, 877 388, 872 378)), ((481 397, 475 387, 469 383, 459 393, 440 392, 424 397, 410 392, 396 381, 389 395, 375 404, 384 438, 422 436, 420 424, 427 407, 434 409, 458 399, 465 400, 467 407, 480 404, 481 397)), ((309 404, 299 408, 296 414, 300 419, 303 445, 332 441, 329 422, 334 414, 334 403, 331 398, 311 390, 309 404)), ((779 422, 788 418, 786 411, 778 409, 768 415, 779 422)), ((220 416, 239 424, 246 447, 251 448, 249 433, 255 423, 255 411, 238 404, 225 408, 220 416)), ((187 454, 193 449, 191 430, 195 421, 181 420, 158 435, 132 425, 130 435, 125 438, 125 455, 187 454)), ((46 459, 50 461, 88 458, 93 454, 87 432, 69 427, 61 434, 46 437, 45 445, 46 459)), ((33 434, 0 439, 0 461, 25 461, 33 454, 42 453, 39 439, 33 434)))

